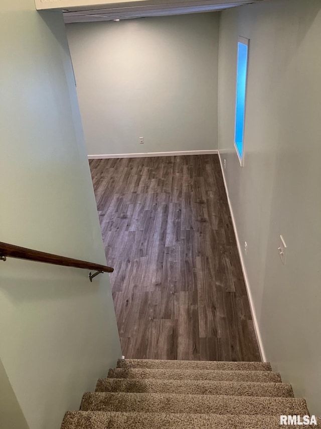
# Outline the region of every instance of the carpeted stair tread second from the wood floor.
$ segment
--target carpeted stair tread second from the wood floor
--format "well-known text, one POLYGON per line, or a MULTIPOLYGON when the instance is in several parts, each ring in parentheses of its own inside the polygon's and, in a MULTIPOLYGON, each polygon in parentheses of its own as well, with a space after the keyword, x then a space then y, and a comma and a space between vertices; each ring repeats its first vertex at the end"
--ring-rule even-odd
POLYGON ((273 371, 230 371, 197 369, 148 369, 116 368, 110 369, 108 378, 157 378, 171 380, 217 380, 217 381, 260 381, 281 382, 279 373, 273 371))

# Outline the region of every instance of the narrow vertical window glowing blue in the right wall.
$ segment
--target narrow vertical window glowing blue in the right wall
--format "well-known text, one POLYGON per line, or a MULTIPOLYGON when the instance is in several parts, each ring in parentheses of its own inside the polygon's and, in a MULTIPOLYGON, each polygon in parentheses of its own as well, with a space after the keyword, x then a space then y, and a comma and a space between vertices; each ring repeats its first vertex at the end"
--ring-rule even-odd
POLYGON ((237 72, 236 72, 236 103, 235 103, 235 148, 241 166, 243 165, 244 121, 246 78, 248 63, 249 39, 238 38, 237 44, 237 72))

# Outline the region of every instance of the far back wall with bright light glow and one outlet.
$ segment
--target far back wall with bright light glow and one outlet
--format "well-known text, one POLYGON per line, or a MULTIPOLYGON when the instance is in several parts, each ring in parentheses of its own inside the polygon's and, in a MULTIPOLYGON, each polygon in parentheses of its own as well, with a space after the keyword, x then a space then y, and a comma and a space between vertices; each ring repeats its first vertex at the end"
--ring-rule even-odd
POLYGON ((217 149, 218 18, 66 26, 89 155, 217 149))

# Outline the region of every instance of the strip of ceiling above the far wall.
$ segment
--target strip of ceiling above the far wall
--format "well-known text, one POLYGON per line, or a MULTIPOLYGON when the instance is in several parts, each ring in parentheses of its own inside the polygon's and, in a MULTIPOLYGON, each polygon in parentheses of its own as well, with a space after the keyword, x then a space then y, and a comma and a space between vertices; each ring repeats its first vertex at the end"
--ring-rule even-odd
MULTIPOLYGON (((141 2, 100 5, 99 9, 79 7, 64 10, 66 24, 75 22, 111 21, 168 15, 221 11, 263 0, 144 0, 141 2)), ((98 8, 98 7, 97 7, 98 8)))

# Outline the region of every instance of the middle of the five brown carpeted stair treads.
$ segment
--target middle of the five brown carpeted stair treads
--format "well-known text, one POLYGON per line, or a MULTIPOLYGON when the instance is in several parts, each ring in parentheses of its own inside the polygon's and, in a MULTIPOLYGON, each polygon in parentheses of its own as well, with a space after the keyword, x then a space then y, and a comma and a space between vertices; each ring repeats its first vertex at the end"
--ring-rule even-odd
POLYGON ((211 380, 99 379, 96 392, 190 393, 238 396, 293 397, 290 384, 211 380))

